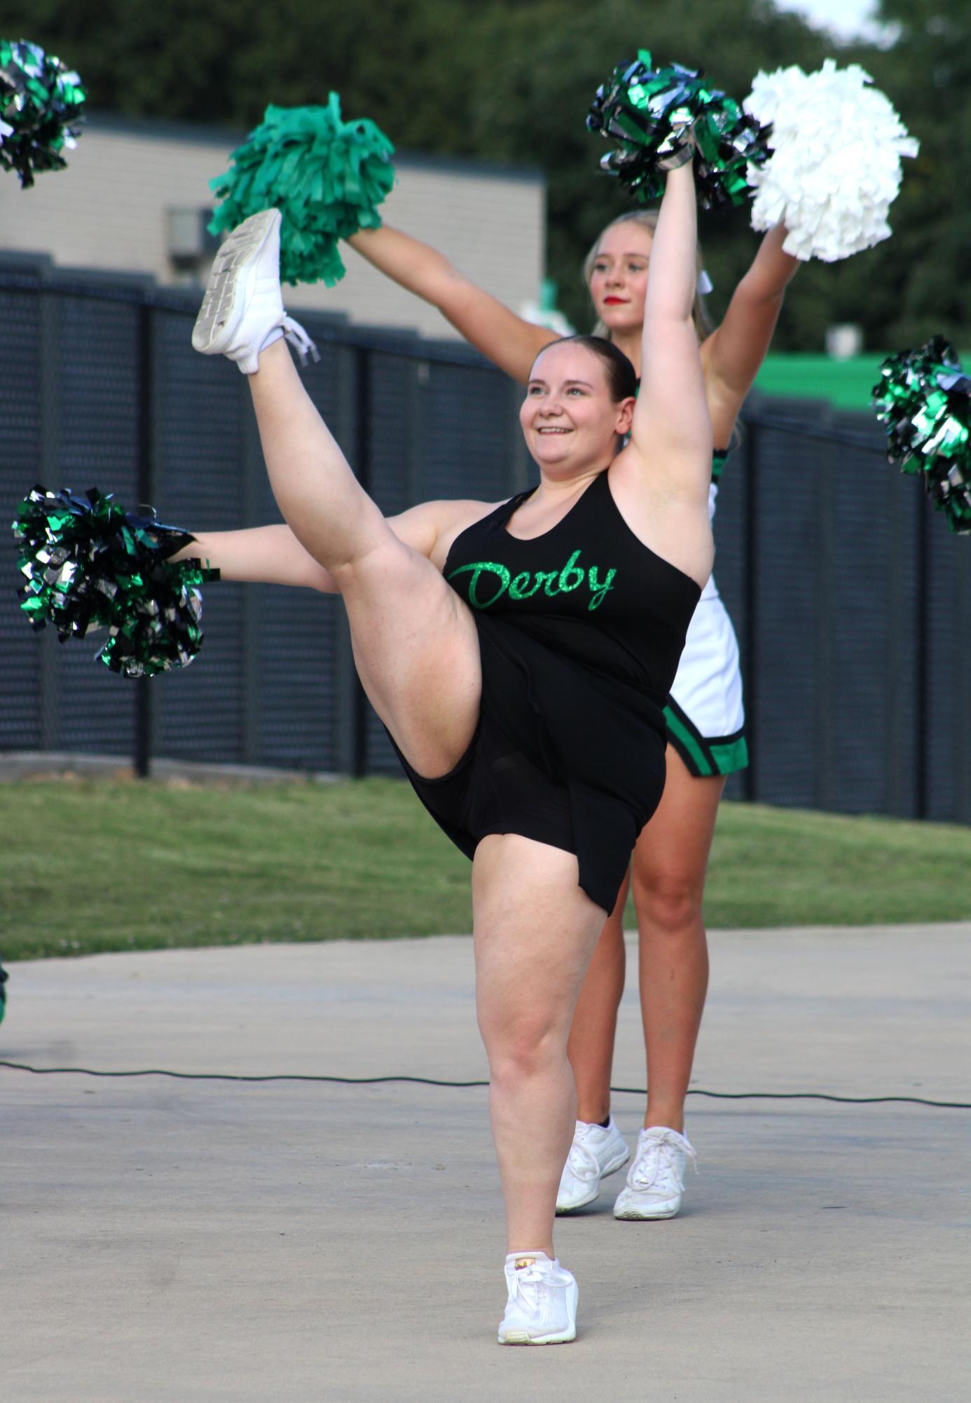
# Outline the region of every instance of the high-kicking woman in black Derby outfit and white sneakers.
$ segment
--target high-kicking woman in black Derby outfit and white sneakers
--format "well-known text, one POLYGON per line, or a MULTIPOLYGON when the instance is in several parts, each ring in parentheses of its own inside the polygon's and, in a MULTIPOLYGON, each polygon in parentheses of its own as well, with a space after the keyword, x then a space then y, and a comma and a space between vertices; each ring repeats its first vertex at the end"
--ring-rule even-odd
POLYGON ((546 347, 521 425, 541 484, 385 521, 282 340, 279 213, 223 246, 193 333, 249 377, 287 528, 198 536, 227 578, 339 592, 361 683, 422 801, 472 857, 476 1002, 507 1216, 500 1343, 576 1333, 553 1251, 573 1138, 567 1038, 591 951, 664 786, 663 709, 713 557, 691 166, 652 246, 640 394, 597 338, 546 347), (614 457, 618 436, 629 445, 614 457))

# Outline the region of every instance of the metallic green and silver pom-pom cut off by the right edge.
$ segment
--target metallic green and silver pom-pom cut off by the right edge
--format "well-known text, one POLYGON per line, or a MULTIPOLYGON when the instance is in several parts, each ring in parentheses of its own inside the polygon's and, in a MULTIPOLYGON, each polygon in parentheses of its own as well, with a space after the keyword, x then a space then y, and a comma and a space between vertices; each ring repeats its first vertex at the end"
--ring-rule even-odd
POLYGON ((971 532, 971 377, 954 349, 932 337, 919 351, 887 356, 873 403, 887 425, 890 462, 923 474, 950 529, 971 532))

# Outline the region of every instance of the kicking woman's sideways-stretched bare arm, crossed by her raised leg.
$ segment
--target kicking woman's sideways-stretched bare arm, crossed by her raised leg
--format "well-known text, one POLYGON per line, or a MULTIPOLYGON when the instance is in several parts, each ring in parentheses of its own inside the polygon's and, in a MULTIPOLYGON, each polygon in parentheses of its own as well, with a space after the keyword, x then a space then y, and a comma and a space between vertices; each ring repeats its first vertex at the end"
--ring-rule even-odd
MULTIPOLYGON (((458 530, 488 511, 485 502, 422 502, 399 516, 388 518, 398 540, 419 554, 444 565, 444 554, 458 530), (441 560, 437 558, 441 556, 441 560)), ((252 526, 247 530, 196 532, 172 560, 202 560, 220 571, 223 579, 249 584, 291 585, 336 593, 329 571, 300 544, 289 526, 252 526)))

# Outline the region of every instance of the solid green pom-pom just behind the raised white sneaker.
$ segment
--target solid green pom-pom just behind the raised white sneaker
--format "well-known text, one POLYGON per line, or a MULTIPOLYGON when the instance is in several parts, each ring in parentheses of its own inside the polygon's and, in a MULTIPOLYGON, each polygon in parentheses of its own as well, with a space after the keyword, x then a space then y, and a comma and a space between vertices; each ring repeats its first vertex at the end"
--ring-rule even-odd
POLYGON ((223 201, 210 233, 276 206, 282 282, 322 279, 332 288, 345 274, 338 239, 381 224, 377 206, 394 184, 392 154, 374 122, 342 121, 336 93, 326 107, 268 107, 230 157, 233 168, 209 182, 223 201))

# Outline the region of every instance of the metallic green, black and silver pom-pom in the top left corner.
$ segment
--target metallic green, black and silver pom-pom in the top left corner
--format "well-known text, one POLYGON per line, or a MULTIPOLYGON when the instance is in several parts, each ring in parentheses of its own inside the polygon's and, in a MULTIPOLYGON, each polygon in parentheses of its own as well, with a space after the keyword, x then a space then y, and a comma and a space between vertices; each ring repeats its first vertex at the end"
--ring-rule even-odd
POLYGON ((34 175, 63 170, 80 135, 85 91, 77 73, 27 39, 0 39, 0 166, 27 189, 34 175))

